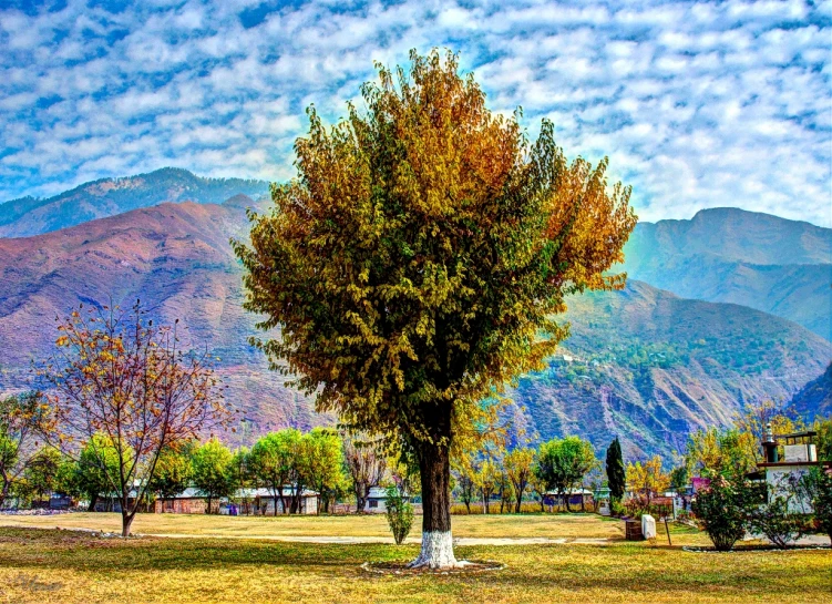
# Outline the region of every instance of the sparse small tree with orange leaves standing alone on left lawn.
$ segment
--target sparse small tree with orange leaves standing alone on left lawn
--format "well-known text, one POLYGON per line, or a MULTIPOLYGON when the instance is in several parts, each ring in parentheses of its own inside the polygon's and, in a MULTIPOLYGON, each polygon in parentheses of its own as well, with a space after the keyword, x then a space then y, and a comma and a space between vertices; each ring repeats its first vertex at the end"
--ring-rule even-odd
POLYGON ((62 430, 53 443, 78 455, 79 442, 106 436, 117 471, 109 474, 103 460, 97 467, 107 472, 127 536, 162 452, 228 417, 210 355, 183 345, 178 320, 154 326, 138 301, 129 313, 82 305, 58 331, 58 351, 39 370, 62 430))

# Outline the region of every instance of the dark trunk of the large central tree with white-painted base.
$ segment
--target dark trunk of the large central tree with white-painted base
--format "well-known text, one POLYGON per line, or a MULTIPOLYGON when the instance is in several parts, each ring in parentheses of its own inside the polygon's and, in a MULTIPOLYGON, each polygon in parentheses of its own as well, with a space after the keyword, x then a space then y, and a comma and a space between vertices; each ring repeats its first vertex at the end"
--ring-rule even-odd
POLYGON ((451 538, 451 460, 448 444, 420 442, 417 451, 422 479, 422 550, 410 566, 460 566, 453 555, 451 538))

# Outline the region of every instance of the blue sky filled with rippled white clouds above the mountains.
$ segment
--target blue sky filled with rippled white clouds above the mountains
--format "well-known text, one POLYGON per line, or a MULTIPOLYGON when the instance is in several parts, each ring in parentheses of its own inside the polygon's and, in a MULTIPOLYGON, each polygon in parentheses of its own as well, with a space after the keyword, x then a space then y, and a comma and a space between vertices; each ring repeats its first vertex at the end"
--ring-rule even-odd
POLYGON ((0 0, 0 202, 163 166, 283 181, 314 103, 460 53, 493 111, 609 157, 641 219, 832 226, 832 1, 0 0))

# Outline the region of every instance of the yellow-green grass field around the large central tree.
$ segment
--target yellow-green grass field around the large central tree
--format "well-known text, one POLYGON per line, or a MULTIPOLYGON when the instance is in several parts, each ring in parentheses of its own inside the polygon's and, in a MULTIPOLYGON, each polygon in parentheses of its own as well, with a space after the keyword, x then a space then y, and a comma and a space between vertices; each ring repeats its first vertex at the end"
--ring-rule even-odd
MULTIPOLYGON (((93 514, 97 515, 97 514, 93 514)), ((75 515, 73 514, 72 518, 75 515)), ((54 521, 70 516, 39 518, 54 521)), ((162 518, 162 516, 156 516, 162 518)), ((153 522, 172 522, 171 518, 153 522)), ((581 532, 607 534, 615 522, 597 516, 503 516, 476 523, 454 518, 454 533, 480 531, 520 536, 581 532), (492 523, 496 521, 497 523, 492 523), (503 523, 500 524, 499 522, 503 523), (502 526, 502 529, 501 529, 502 526), (535 532, 532 532, 535 531, 535 532)), ((150 516, 142 516, 151 522, 150 516)), ((187 519, 192 531, 219 531, 229 520, 255 522, 257 531, 287 530, 267 519, 187 519), (197 520, 198 519, 198 520, 197 520), (260 524, 263 523, 263 524, 260 524)), ((6 521, 8 519, 0 519, 6 521)), ((16 519, 18 520, 18 519, 16 519)), ((35 520, 35 519, 25 519, 35 520)), ((291 519, 298 520, 298 519, 291 519)), ((302 519, 292 526, 317 531, 302 519)), ((335 521, 345 531, 378 530, 373 518, 335 521)), ((382 521, 383 522, 383 521, 382 521)), ((32 522, 32 524, 35 524, 32 522)), ((49 525, 43 522, 42 524, 49 525)), ((165 524, 162 524, 165 525, 165 524)), ((383 526, 383 525, 382 525, 383 526)), ((179 530, 178 532, 182 532, 179 530)), ((333 534, 329 532, 328 534, 333 534)), ((703 542, 686 528, 674 529, 674 543, 703 542)), ((497 560, 505 570, 481 575, 378 576, 366 561, 407 561, 415 545, 330 545, 246 539, 99 539, 89 533, 0 529, 0 602, 93 604, 99 602, 183 603, 428 603, 428 602, 829 602, 832 553, 829 550, 697 554, 665 543, 613 541, 605 545, 458 547, 458 557, 497 560)))

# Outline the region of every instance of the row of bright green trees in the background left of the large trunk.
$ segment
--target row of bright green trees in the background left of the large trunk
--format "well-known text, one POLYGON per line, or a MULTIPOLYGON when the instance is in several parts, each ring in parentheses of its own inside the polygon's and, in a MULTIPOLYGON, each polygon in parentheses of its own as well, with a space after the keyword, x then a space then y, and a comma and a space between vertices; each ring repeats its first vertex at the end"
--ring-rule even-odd
MULTIPOLYGON (((14 400, 7 398, 0 405, 10 407, 14 400)), ((91 511, 103 498, 110 502, 120 499, 114 480, 121 467, 119 450, 106 434, 94 434, 76 455, 51 446, 25 451, 4 436, 0 436, 0 451, 3 498, 42 501, 50 493, 62 493, 89 501, 91 511)), ((146 488, 136 484, 131 495, 143 496, 146 504, 154 496, 173 499, 192 487, 207 500, 210 511, 219 498, 233 496, 240 489, 265 488, 274 498, 277 514, 278 509, 299 512, 302 492, 310 489, 320 494, 323 512, 328 512, 332 502, 348 494, 355 495, 358 510, 362 510, 370 489, 397 482, 404 488, 405 480, 396 462, 372 442, 326 428, 307 433, 286 429, 264 436, 250 449, 232 451, 216 438, 167 448, 158 455, 146 488)))

